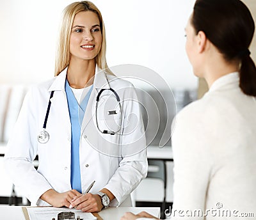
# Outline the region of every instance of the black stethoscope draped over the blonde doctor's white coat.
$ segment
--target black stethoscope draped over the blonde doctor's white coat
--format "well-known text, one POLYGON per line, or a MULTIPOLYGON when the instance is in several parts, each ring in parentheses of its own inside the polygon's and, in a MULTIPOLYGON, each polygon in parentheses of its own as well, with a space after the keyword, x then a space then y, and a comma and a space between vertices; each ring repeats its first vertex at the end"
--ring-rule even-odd
MULTIPOLYGON (((108 80, 108 79, 107 79, 108 80)), ((120 129, 121 129, 121 126, 119 126, 119 129, 117 130, 101 130, 99 128, 99 123, 98 123, 98 119, 97 119, 97 113, 98 113, 98 104, 99 104, 99 100, 100 100, 100 95, 101 93, 104 91, 104 90, 110 90, 112 93, 114 93, 115 97, 116 97, 116 101, 118 102, 118 106, 119 106, 119 112, 120 112, 120 118, 122 118, 122 111, 121 111, 121 103, 120 103, 120 98, 118 96, 118 94, 116 93, 115 90, 113 90, 112 88, 109 88, 109 89, 101 89, 96 97, 96 109, 95 109, 95 118, 96 118, 96 124, 97 124, 97 129, 102 133, 102 134, 110 134, 110 135, 114 135, 114 134, 117 134, 120 129)), ((51 109, 51 98, 53 97, 53 93, 54 91, 51 91, 51 95, 50 95, 50 98, 49 98, 49 103, 48 103, 48 106, 47 106, 47 111, 46 111, 46 114, 45 114, 45 119, 44 119, 44 126, 43 126, 43 130, 38 134, 37 136, 37 139, 38 139, 38 142, 39 143, 42 143, 42 144, 45 144, 49 141, 49 133, 47 132, 46 130, 46 123, 47 123, 47 120, 48 120, 48 116, 49 116, 49 111, 51 109)), ((113 110, 113 111, 108 111, 108 114, 111 115, 111 114, 118 114, 118 111, 116 110, 113 110)))

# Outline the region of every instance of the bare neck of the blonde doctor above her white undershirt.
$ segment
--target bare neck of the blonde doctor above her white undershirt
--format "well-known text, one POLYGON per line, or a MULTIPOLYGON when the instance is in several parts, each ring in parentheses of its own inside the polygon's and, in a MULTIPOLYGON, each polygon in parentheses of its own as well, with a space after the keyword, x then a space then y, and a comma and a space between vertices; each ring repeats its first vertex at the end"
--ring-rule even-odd
POLYGON ((95 59, 90 60, 74 60, 70 59, 67 70, 68 84, 75 89, 81 89, 93 84, 95 75, 96 62, 95 59))

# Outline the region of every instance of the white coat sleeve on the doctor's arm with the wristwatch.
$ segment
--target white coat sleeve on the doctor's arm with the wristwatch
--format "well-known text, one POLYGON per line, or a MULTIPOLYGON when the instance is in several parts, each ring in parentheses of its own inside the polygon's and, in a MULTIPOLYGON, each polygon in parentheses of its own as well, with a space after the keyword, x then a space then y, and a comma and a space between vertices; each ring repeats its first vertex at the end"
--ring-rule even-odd
POLYGON ((147 176, 148 170, 145 130, 138 97, 133 86, 127 90, 128 95, 125 95, 125 98, 129 101, 124 102, 122 112, 122 157, 118 169, 105 187, 115 196, 115 200, 109 204, 111 206, 120 205, 147 176), (138 122, 136 126, 131 123, 132 116, 138 122))

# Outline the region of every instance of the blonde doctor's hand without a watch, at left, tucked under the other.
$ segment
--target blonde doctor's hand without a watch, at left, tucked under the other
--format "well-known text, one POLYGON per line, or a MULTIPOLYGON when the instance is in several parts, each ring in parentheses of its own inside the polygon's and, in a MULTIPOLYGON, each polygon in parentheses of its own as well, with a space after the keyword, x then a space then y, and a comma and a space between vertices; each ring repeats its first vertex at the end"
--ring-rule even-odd
POLYGON ((54 207, 70 207, 70 203, 77 196, 81 196, 81 193, 76 191, 76 189, 72 189, 65 193, 58 193, 54 191, 54 189, 49 189, 40 197, 41 200, 46 201, 50 205, 54 207))

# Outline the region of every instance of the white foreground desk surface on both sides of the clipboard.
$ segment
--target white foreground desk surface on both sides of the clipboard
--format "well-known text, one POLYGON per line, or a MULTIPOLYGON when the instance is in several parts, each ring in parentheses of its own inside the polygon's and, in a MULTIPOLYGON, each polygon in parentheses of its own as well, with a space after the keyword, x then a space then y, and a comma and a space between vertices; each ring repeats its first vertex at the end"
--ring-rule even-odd
MULTIPOLYGON (((125 212, 139 212, 146 211, 150 214, 159 217, 160 208, 142 208, 142 207, 109 207, 99 212, 100 217, 104 220, 120 220, 125 212)), ((0 219, 3 220, 25 220, 22 212, 22 207, 15 206, 0 206, 0 219)), ((46 219, 47 220, 47 219, 46 219)))

